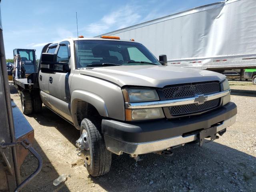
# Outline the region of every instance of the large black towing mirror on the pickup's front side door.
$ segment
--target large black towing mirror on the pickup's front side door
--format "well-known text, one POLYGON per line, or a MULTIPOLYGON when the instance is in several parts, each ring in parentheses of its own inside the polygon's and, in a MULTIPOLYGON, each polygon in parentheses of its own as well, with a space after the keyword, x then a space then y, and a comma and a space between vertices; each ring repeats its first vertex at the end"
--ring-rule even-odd
POLYGON ((57 62, 57 54, 42 53, 40 66, 42 72, 70 72, 67 62, 57 62))

